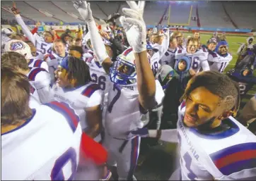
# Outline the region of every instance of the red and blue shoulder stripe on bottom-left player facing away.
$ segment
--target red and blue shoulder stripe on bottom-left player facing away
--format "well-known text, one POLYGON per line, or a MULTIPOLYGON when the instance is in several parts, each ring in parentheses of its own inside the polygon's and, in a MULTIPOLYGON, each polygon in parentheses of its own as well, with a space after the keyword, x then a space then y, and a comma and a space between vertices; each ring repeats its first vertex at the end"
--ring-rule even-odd
POLYGON ((76 131, 76 127, 79 123, 79 117, 76 115, 74 109, 69 106, 69 104, 66 104, 64 102, 52 101, 45 105, 49 106, 54 111, 61 113, 66 118, 66 121, 69 124, 71 130, 73 132, 76 131))

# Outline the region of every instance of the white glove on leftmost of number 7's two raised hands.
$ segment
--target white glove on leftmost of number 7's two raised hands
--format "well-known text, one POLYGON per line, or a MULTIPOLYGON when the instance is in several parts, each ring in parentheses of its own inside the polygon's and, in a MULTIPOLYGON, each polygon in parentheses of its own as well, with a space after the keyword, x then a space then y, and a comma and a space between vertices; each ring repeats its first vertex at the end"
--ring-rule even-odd
POLYGON ((74 7, 77 9, 86 23, 93 20, 93 13, 91 12, 90 3, 86 3, 86 1, 74 1, 73 3, 74 7))

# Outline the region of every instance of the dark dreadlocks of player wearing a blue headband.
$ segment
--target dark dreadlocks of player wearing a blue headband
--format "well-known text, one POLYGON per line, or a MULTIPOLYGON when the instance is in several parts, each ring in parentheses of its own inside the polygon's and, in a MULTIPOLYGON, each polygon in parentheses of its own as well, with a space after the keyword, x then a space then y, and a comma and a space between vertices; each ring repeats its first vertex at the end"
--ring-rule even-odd
POLYGON ((67 73, 69 80, 76 80, 76 87, 86 85, 91 81, 90 70, 86 62, 74 56, 69 56, 69 70, 67 70, 67 73))

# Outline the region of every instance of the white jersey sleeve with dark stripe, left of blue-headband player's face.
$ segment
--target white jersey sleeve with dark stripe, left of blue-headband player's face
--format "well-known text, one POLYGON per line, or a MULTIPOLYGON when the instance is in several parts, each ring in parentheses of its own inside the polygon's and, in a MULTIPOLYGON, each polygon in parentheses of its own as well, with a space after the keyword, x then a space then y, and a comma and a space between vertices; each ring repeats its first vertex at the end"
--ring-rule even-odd
POLYGON ((30 69, 30 72, 28 73, 28 79, 30 80, 30 85, 33 85, 33 88, 37 90, 37 92, 32 92, 30 89, 30 92, 39 97, 39 100, 42 104, 45 104, 49 102, 52 99, 51 92, 50 92, 50 73, 47 72, 47 70, 43 68, 37 68, 33 67, 30 69))

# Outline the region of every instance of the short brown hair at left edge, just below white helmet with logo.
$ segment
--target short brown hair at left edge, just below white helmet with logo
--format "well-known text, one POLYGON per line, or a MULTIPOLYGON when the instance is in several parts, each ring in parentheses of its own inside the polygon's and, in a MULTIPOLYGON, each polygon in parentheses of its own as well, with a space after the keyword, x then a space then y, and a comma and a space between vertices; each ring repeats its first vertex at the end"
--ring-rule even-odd
POLYGON ((28 70, 28 63, 25 56, 14 51, 6 51, 1 54, 1 66, 18 67, 23 70, 28 70))

